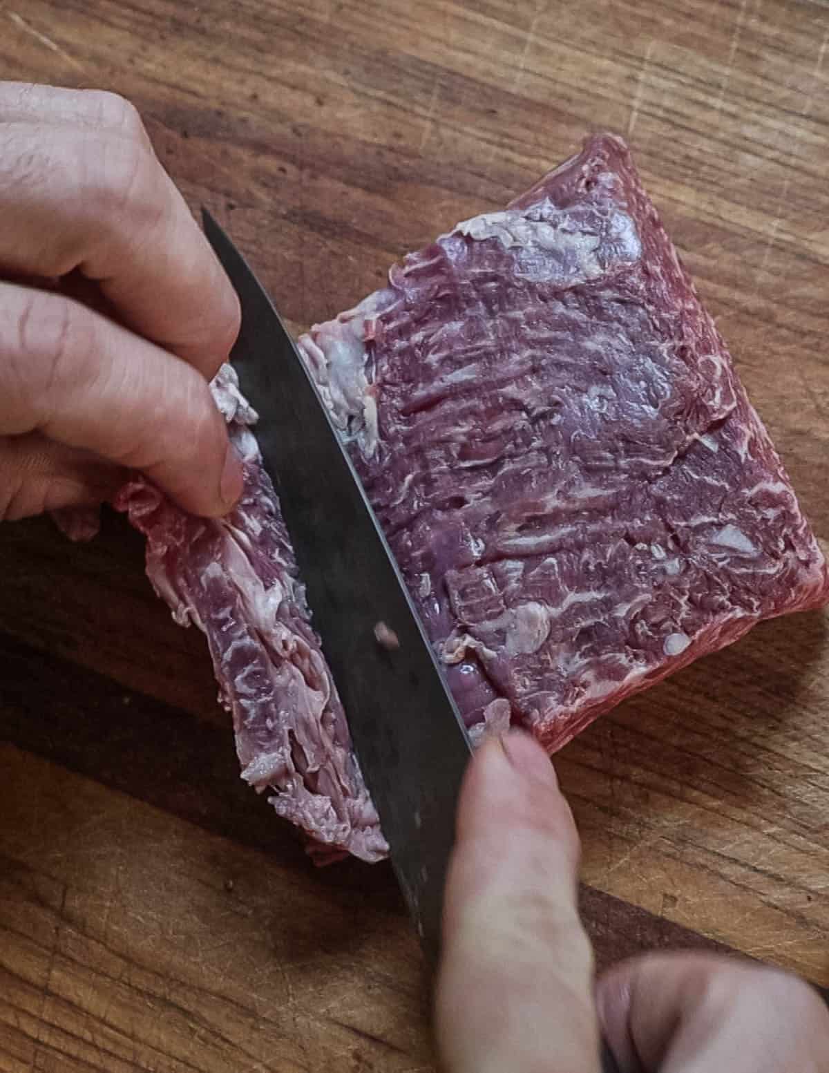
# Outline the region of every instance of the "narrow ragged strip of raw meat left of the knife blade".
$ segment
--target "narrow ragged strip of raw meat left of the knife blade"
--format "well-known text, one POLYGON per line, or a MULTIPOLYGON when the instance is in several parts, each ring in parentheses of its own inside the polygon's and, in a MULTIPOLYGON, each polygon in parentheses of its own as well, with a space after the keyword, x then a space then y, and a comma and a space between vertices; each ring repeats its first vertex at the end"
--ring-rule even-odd
POLYGON ((207 636, 242 778, 272 793, 270 804, 306 833, 320 863, 344 851, 379 861, 387 846, 249 429, 256 414, 231 366, 212 389, 245 466, 236 510, 219 520, 193 517, 140 477, 115 505, 146 535, 147 574, 175 620, 207 636))

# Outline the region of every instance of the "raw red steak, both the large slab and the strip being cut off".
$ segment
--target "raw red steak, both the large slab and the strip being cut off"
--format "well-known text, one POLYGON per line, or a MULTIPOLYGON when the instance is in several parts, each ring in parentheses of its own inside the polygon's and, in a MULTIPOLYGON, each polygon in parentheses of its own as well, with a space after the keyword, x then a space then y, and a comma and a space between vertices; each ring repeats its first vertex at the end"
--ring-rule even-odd
MULTIPOLYGON (((460 223, 300 349, 473 739, 549 751, 623 697, 829 600, 827 567, 624 143, 590 138, 460 223)), ((205 631, 243 777, 317 856, 386 852, 249 426, 245 497, 118 504, 178 621, 205 631)), ((334 523, 336 524, 336 521, 334 523)))

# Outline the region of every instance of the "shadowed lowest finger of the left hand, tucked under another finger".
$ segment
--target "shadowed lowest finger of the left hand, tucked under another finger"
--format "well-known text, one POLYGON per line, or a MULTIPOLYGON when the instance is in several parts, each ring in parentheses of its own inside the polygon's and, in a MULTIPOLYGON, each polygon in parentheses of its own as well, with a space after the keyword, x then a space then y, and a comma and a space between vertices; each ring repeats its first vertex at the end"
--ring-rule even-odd
POLYGON ((39 432, 0 437, 0 521, 112 499, 128 471, 39 432))

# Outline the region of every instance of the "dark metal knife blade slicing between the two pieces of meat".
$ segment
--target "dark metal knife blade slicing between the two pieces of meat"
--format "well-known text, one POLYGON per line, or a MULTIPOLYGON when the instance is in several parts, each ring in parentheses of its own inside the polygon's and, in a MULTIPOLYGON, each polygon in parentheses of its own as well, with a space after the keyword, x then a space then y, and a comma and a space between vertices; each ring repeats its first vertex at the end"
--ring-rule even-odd
POLYGON ((391 863, 430 955, 470 745, 400 571, 293 339, 245 259, 203 210, 241 302, 232 354, 349 717, 391 863), (381 648, 379 622, 400 647, 381 648))

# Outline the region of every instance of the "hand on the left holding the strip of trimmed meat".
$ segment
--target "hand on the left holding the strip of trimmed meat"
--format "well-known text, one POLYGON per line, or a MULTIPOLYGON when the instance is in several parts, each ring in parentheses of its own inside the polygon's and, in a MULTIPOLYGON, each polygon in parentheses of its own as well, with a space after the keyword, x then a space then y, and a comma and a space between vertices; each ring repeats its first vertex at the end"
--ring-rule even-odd
POLYGON ((0 83, 0 519, 100 502, 124 468, 226 513, 208 381, 238 300, 135 108, 0 83))

